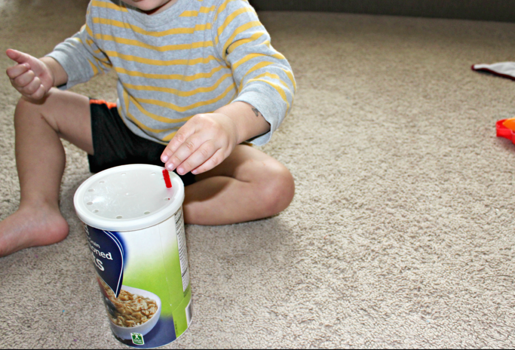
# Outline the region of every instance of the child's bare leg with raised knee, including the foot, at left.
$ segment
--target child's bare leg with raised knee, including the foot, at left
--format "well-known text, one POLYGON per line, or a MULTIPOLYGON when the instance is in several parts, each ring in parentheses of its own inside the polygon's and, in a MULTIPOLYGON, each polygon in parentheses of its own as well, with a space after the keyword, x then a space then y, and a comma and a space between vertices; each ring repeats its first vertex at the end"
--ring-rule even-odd
POLYGON ((92 153, 90 120, 85 96, 52 89, 38 102, 20 99, 14 113, 20 207, 0 222, 0 256, 67 236, 58 204, 65 164, 60 137, 92 153))

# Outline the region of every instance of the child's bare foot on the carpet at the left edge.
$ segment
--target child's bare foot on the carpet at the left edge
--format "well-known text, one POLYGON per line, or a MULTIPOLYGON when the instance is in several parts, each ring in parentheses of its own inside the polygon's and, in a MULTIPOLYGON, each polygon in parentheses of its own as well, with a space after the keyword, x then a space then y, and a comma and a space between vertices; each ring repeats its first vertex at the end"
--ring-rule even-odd
POLYGON ((59 208, 49 206, 20 207, 0 222, 0 256, 24 248, 47 246, 68 235, 68 223, 59 208))

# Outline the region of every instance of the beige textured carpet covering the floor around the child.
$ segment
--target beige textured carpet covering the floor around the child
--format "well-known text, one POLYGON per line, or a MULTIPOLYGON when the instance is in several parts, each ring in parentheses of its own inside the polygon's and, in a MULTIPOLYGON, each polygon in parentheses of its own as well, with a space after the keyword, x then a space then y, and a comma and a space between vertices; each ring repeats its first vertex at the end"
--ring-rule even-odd
MULTIPOLYGON (((85 0, 0 0, 0 48, 43 55, 85 0)), ((186 226, 194 323, 169 348, 515 346, 515 24, 263 12, 298 82, 263 150, 297 192, 282 214, 186 226)), ((1 70, 10 65, 0 56, 1 70)), ((74 89, 114 100, 115 76, 74 89)), ((0 219, 19 201, 0 75, 0 219)), ((73 117, 73 116, 70 116, 73 117)), ((122 348, 110 334, 73 194, 90 176, 66 145, 59 244, 0 259, 0 347, 122 348)))

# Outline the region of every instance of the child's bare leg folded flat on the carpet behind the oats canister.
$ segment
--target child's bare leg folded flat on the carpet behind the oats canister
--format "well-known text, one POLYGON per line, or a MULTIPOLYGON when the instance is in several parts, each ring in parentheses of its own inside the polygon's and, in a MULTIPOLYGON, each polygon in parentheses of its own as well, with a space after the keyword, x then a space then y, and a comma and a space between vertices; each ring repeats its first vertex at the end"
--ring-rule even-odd
POLYGON ((283 211, 295 193, 284 165, 245 145, 196 179, 185 188, 186 223, 222 225, 269 217, 283 211))

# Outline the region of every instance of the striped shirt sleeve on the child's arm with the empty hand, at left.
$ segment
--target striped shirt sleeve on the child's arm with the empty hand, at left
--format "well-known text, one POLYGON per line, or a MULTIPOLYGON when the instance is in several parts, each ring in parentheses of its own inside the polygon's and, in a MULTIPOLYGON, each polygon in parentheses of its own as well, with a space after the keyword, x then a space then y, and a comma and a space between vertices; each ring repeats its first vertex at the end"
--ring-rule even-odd
POLYGON ((90 3, 86 14, 86 23, 82 28, 46 55, 59 62, 68 75, 68 81, 59 86, 60 89, 70 89, 78 83, 87 82, 94 76, 107 73, 111 69, 111 61, 95 43, 92 28, 90 3))

